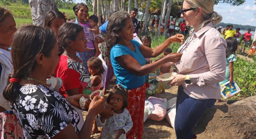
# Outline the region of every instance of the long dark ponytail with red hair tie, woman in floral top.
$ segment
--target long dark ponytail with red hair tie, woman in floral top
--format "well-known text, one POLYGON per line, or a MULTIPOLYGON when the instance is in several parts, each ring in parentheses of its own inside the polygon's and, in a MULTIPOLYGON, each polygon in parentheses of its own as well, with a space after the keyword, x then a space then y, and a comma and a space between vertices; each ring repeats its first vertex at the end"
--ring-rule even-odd
POLYGON ((10 82, 10 78, 20 81, 27 78, 37 63, 36 57, 43 53, 49 57, 51 50, 57 43, 55 34, 50 28, 38 26, 24 26, 13 35, 11 44, 11 58, 13 61, 13 74, 9 75, 3 96, 14 103, 19 94, 19 82, 10 82))

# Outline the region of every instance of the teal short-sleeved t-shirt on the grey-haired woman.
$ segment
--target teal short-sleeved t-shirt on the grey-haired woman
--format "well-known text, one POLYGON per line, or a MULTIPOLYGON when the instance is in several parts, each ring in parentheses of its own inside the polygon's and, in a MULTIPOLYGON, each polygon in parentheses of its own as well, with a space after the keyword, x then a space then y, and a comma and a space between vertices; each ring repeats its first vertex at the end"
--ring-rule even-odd
POLYGON ((116 60, 116 57, 122 55, 131 55, 135 60, 139 62, 141 66, 146 64, 145 57, 141 54, 139 47, 141 44, 136 40, 131 40, 136 51, 130 50, 128 47, 116 44, 110 51, 111 64, 114 69, 115 76, 117 77, 117 84, 122 85, 126 89, 135 89, 145 84, 145 75, 137 76, 124 69, 116 60))

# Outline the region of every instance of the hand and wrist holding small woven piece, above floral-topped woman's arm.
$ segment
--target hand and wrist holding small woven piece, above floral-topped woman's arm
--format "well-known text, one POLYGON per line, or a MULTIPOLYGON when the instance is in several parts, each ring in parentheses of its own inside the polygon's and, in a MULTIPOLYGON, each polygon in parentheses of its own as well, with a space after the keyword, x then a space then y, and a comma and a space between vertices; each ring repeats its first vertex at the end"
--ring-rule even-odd
MULTIPOLYGON (((77 107, 78 109, 81 109, 80 104, 79 104, 79 99, 84 96, 85 98, 90 98, 89 95, 84 95, 84 94, 78 94, 78 95, 72 95, 68 96, 65 99, 73 106, 77 107)), ((88 111, 89 105, 90 105, 90 99, 89 101, 86 101, 85 103, 85 111, 88 111)))

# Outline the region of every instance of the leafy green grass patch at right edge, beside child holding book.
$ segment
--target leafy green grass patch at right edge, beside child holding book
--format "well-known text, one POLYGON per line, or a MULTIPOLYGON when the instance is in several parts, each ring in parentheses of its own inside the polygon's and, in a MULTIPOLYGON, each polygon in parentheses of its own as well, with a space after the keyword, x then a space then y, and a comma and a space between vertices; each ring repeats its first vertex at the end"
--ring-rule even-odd
POLYGON ((256 58, 253 58, 254 62, 239 57, 236 57, 236 59, 237 61, 234 62, 234 81, 242 90, 236 96, 248 97, 256 95, 256 58))

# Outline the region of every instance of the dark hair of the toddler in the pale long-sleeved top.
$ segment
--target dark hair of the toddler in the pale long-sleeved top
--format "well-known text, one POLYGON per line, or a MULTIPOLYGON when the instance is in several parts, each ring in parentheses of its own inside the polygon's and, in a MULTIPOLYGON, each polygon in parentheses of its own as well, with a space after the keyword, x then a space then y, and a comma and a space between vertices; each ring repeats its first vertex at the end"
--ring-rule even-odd
POLYGON ((110 98, 113 94, 118 94, 123 97, 123 101, 124 101, 123 108, 126 108, 128 106, 128 91, 124 87, 121 87, 121 85, 119 84, 113 87, 112 91, 110 92, 107 98, 108 104, 110 103, 110 98))

